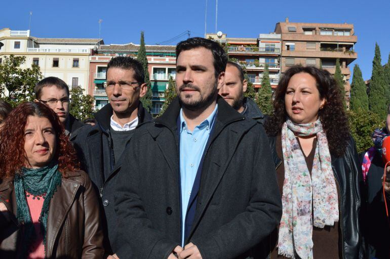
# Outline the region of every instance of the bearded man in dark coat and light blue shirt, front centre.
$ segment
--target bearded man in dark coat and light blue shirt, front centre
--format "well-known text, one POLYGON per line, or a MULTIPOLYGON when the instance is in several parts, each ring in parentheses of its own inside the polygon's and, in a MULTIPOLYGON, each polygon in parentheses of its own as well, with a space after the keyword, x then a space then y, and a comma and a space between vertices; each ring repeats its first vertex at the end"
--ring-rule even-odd
POLYGON ((116 179, 119 258, 265 258, 281 198, 263 127, 223 98, 227 56, 205 38, 176 48, 176 91, 135 132, 116 179))

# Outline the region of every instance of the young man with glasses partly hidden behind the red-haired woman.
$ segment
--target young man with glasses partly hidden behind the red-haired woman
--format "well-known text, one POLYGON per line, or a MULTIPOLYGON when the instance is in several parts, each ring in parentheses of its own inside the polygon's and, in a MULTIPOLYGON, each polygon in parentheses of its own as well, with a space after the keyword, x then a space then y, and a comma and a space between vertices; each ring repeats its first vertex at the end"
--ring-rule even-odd
POLYGON ((60 78, 50 76, 39 81, 34 88, 35 101, 48 105, 54 110, 65 127, 66 135, 85 124, 69 113, 69 88, 60 78))

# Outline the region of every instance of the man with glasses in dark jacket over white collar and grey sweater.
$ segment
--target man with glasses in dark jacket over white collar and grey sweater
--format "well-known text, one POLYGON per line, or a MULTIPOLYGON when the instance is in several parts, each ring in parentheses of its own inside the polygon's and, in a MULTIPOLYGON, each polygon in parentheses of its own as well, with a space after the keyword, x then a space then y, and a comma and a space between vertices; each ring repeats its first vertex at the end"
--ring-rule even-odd
POLYGON ((135 128, 151 121, 140 98, 147 85, 139 61, 130 57, 115 57, 107 65, 104 88, 109 104, 95 114, 96 125, 81 128, 72 141, 77 154, 101 197, 107 254, 115 253, 116 215, 113 189, 115 176, 121 167, 122 153, 135 128))

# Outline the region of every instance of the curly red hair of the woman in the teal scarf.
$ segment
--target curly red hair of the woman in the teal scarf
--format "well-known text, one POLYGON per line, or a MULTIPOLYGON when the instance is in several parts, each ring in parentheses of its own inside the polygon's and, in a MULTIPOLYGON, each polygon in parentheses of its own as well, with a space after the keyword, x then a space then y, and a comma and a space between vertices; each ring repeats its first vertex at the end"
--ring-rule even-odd
POLYGON ((65 176, 66 171, 79 169, 76 152, 57 114, 41 102, 27 102, 18 105, 6 119, 5 127, 13 130, 0 131, 0 178, 15 176, 25 165, 24 128, 28 116, 45 117, 52 124, 57 139, 53 159, 58 161, 58 170, 65 176))

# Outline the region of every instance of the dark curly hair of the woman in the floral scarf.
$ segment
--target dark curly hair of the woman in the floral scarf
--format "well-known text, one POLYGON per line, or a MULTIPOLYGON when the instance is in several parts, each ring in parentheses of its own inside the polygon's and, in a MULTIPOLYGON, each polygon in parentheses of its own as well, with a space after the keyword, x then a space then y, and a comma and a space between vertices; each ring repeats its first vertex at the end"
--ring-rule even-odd
POLYGON ((270 136, 276 136, 281 132, 287 117, 284 100, 288 83, 293 75, 302 72, 316 78, 320 98, 325 99, 325 105, 319 111, 319 117, 328 139, 329 150, 331 153, 341 156, 345 152, 350 136, 348 119, 345 115, 340 88, 333 76, 323 69, 296 65, 284 73, 275 92, 274 114, 265 122, 265 131, 270 136))

